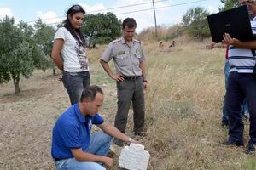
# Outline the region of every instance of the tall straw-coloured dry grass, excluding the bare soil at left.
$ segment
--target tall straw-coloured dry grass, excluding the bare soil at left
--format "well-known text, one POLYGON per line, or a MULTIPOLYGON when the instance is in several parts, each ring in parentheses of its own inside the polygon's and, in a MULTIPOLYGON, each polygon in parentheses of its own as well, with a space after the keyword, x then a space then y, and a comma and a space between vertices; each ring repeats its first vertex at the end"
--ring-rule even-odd
MULTIPOLYGON (((255 157, 246 156, 245 148, 220 144, 228 133, 220 127, 224 49, 207 50, 206 43, 187 42, 186 37, 177 40, 177 47, 168 52, 160 52, 158 42, 144 47, 148 56, 148 136, 139 140, 151 154, 148 169, 256 169, 255 157)), ((99 57, 99 51, 102 48, 90 54, 99 57)), ((100 85, 108 84, 114 92, 115 83, 98 62, 92 65, 100 85)), ((105 99, 105 103, 106 114, 113 117, 116 98, 105 99)), ((132 126, 130 117, 128 134, 132 126)), ((247 142, 248 125, 245 131, 247 142)))

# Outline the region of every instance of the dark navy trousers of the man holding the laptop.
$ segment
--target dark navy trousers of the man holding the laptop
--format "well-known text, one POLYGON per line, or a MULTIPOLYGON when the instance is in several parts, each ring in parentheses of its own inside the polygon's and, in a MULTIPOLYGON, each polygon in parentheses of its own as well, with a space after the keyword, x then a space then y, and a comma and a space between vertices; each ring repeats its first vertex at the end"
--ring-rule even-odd
POLYGON ((230 143, 243 144, 244 124, 241 118, 241 105, 245 98, 250 113, 249 145, 253 145, 256 144, 256 77, 252 73, 230 72, 225 98, 230 121, 230 143))

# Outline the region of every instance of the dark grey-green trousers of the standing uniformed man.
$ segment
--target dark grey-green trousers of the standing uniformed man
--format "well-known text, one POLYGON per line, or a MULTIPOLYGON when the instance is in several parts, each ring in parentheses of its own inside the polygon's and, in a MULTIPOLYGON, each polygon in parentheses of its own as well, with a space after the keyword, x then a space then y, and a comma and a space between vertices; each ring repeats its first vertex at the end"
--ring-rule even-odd
POLYGON ((114 126, 125 133, 128 111, 131 101, 133 106, 134 133, 143 132, 145 107, 143 94, 143 77, 135 80, 117 82, 118 111, 115 116, 114 126))

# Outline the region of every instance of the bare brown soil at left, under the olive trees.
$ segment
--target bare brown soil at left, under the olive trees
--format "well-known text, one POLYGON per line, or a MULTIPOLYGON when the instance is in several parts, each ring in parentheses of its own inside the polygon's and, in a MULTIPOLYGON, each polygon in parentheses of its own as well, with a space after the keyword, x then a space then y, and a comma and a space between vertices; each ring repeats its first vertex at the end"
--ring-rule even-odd
POLYGON ((35 71, 20 81, 0 86, 0 169, 55 169, 51 161, 51 130, 69 106, 67 92, 51 71, 35 71))

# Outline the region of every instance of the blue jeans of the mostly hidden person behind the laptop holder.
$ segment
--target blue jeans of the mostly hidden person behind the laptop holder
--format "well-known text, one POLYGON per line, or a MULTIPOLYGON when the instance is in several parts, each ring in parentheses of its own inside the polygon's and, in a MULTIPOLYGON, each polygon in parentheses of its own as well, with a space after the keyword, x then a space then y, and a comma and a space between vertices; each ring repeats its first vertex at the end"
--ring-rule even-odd
MULTIPOLYGON (((226 90, 228 88, 229 74, 230 74, 230 64, 229 64, 229 60, 226 59, 225 65, 224 65, 224 77, 225 77, 225 89, 226 90)), ((241 106, 241 114, 247 115, 248 112, 249 112, 249 109, 248 109, 247 99, 244 99, 243 104, 241 106)), ((221 122, 229 122, 229 116, 228 116, 227 108, 225 106, 225 96, 224 96, 224 101, 223 101, 223 106, 222 106, 222 121, 221 122)))

